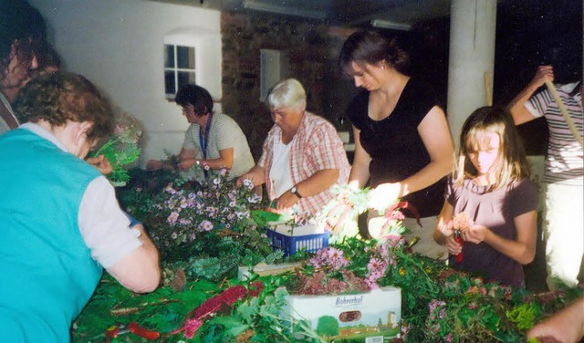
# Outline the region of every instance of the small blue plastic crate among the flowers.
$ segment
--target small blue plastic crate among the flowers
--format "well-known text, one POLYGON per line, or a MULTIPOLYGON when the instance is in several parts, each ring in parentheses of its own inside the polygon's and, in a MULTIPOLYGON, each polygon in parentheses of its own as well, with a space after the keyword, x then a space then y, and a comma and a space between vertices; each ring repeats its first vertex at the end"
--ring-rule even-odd
POLYGON ((286 234, 277 233, 274 230, 267 230, 267 236, 272 239, 272 247, 274 250, 283 250, 284 254, 295 255, 298 251, 308 251, 316 253, 319 249, 328 246, 328 236, 330 233, 324 234, 306 234, 301 236, 287 236, 286 234))

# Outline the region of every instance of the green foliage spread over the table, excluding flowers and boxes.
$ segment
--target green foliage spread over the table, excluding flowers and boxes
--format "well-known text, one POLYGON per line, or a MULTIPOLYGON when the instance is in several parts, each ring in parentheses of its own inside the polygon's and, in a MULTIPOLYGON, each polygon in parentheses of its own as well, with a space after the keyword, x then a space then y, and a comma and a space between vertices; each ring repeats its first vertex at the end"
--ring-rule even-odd
MULTIPOLYGON (((169 175, 160 176, 161 180, 169 180, 169 175)), ((172 194, 165 191, 164 182, 155 182, 156 187, 151 187, 151 182, 155 180, 151 177, 144 180, 148 182, 148 187, 141 185, 133 189, 119 189, 123 190, 120 194, 125 199, 120 203, 125 203, 130 213, 141 220, 154 237, 159 238, 155 242, 162 253, 163 284, 151 294, 138 295, 120 286, 109 275, 104 275, 88 306, 73 326, 74 342, 102 341, 108 327, 131 321, 161 332, 160 341, 172 342, 323 342, 324 339, 318 334, 334 335, 326 325, 311 327, 307 320, 297 320, 286 314, 289 289, 285 286, 298 281, 294 273, 263 277, 252 273, 243 285, 262 280, 264 290, 257 297, 239 300, 232 307, 222 308, 214 317, 204 319, 203 326, 191 339, 184 338, 183 333, 172 333, 183 327, 187 314, 205 300, 229 286, 242 283, 235 279, 238 266, 252 266, 259 262, 307 261, 315 255, 300 252, 284 258, 281 251, 272 251, 265 229, 250 214, 253 209, 242 217, 227 219, 231 212, 223 212, 224 208, 241 211, 242 206, 247 206, 247 209, 251 207, 250 203, 245 203, 247 199, 243 192, 232 192, 233 184, 213 188, 217 184, 184 182, 182 188, 173 189, 175 193, 172 194), (207 197, 201 195, 205 191, 207 197), (210 207, 209 211, 220 213, 214 220, 212 230, 197 229, 203 220, 209 220, 212 215, 185 215, 182 218, 191 219, 192 225, 183 225, 182 228, 168 222, 176 204, 180 207, 180 200, 189 199, 188 194, 191 193, 195 194, 193 199, 204 202, 205 208, 210 207), (229 203, 225 206, 224 199, 229 198, 229 194, 235 196, 236 206, 229 203), (172 209, 169 200, 178 200, 172 209), (180 229, 186 231, 181 232, 180 229), (177 233, 174 238, 173 233, 177 233), (187 237, 187 242, 183 242, 183 236, 179 233, 193 233, 196 239, 191 241, 187 237)), ((257 205, 261 208, 263 204, 257 205)), ((370 275, 370 256, 377 254, 376 249, 381 245, 381 242, 374 240, 345 236, 331 247, 342 251, 349 261, 344 271, 352 273, 355 279, 362 279, 370 275)), ((398 241, 388 246, 388 265, 377 284, 401 288, 401 339, 406 342, 525 341, 528 327, 583 294, 581 288, 574 288, 534 295, 525 289, 485 284, 479 275, 455 271, 443 262, 412 254, 409 246, 398 241)), ((312 265, 301 267, 303 275, 318 272, 321 271, 312 265)), ((343 275, 339 271, 337 274, 343 275)), ((144 340, 127 334, 120 337, 120 341, 144 340)))

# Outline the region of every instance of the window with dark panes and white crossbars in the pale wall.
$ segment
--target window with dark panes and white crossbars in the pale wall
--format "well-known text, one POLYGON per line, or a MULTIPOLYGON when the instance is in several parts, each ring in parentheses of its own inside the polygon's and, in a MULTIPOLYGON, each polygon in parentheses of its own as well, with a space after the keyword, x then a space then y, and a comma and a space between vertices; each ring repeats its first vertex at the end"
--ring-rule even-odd
POLYGON ((164 45, 164 89, 174 99, 180 88, 195 83, 194 47, 164 45))

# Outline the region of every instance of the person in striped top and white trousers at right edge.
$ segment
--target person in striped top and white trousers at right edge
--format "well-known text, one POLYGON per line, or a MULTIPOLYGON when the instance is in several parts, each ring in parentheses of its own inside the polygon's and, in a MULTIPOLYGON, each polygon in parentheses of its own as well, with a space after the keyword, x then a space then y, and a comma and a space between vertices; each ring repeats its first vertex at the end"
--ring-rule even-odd
POLYGON ((584 266, 582 83, 577 81, 555 86, 579 132, 577 139, 549 89, 534 95, 546 81, 553 80, 553 67, 540 66, 527 87, 509 104, 516 125, 543 116, 549 129, 546 170, 542 181, 545 192, 543 232, 547 244, 547 286, 551 290, 558 288, 558 282, 566 286, 578 285, 579 273, 584 266))

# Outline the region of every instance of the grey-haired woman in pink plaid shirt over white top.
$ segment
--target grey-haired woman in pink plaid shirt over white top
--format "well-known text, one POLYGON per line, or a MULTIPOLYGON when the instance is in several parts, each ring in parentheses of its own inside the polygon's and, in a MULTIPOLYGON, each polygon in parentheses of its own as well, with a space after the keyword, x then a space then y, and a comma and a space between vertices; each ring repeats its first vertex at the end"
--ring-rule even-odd
POLYGON ((266 183, 277 210, 314 215, 332 200, 330 188, 349 179, 343 142, 332 124, 306 110, 306 91, 296 79, 277 83, 266 102, 275 125, 259 161, 237 183, 266 183))

